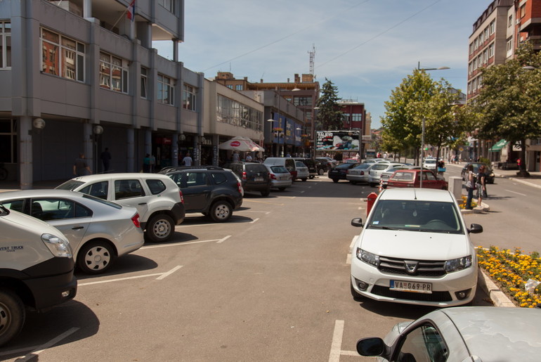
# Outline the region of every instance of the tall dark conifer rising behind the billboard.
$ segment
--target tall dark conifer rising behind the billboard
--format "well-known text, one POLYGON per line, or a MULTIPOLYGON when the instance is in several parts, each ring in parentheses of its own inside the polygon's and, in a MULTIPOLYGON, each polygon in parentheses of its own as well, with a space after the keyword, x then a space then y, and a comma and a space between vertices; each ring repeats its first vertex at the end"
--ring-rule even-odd
POLYGON ((342 123, 342 112, 338 101, 337 87, 325 78, 321 88, 321 96, 316 103, 319 108, 316 120, 320 122, 325 131, 335 131, 344 128, 342 123))

